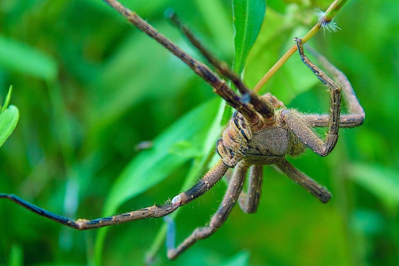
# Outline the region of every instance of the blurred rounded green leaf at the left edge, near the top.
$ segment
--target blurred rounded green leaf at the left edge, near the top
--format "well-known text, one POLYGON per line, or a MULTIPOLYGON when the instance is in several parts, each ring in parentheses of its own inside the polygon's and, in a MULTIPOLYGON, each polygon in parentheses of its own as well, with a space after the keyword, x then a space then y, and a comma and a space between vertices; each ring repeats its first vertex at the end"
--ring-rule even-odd
POLYGON ((0 66, 40 79, 51 80, 57 76, 57 63, 47 54, 0 35, 0 66))

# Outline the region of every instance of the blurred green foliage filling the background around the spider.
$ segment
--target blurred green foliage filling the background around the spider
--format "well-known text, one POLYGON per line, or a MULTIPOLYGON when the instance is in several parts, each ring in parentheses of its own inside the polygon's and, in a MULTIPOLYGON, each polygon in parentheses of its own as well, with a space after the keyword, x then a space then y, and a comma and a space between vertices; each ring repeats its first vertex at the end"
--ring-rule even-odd
MULTIPOLYGON (((123 4, 203 60, 163 17, 173 7, 215 54, 232 63, 229 0, 123 4)), ((246 62, 246 83, 253 87, 292 39, 314 25, 315 7, 329 4, 269 0, 246 62)), ((290 160, 326 185, 332 200, 320 204, 265 167, 256 214, 235 208, 216 234, 176 262, 166 259, 163 246, 154 262, 399 264, 398 12, 397 0, 350 0, 336 18, 342 31, 319 32, 309 42, 348 75, 366 112, 364 125, 342 130, 328 157, 309 151, 290 160)), ((1 1, 0 99, 10 84, 20 121, 0 148, 0 192, 70 217, 97 218, 174 197, 186 176, 200 168, 200 155, 213 149, 208 142, 220 127, 220 101, 211 88, 100 0, 1 1), (153 140, 152 148, 135 151, 147 140, 153 140)), ((297 55, 261 92, 267 91, 288 107, 328 111, 325 88, 297 55)), ((178 211, 178 241, 208 222, 224 191, 221 182, 178 211)), ((161 224, 162 219, 143 220, 109 228, 102 264, 142 264, 161 224)), ((0 265, 92 264, 99 231, 63 228, 2 200, 0 265)))

